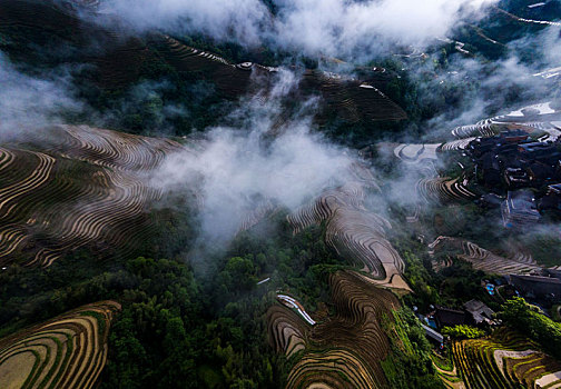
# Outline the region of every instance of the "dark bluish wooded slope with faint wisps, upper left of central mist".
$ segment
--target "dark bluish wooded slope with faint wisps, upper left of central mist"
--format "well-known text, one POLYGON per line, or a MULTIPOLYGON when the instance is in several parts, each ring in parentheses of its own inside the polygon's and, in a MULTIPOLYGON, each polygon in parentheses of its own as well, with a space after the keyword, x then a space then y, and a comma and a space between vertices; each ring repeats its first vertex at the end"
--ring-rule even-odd
POLYGON ((211 80, 201 74, 178 72, 158 48, 142 62, 138 79, 107 89, 91 81, 83 69, 75 78, 78 97, 87 102, 81 116, 67 118, 130 133, 180 137, 216 123, 233 108, 211 80))

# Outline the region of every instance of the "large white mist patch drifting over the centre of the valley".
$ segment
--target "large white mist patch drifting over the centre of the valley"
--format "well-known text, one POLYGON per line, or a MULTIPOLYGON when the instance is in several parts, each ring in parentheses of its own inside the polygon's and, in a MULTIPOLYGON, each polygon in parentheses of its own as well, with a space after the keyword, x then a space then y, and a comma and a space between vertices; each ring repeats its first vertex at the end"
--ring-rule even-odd
POLYGON ((152 178, 165 192, 198 192, 207 243, 232 239, 262 201, 294 210, 348 176, 355 157, 315 131, 312 118, 292 118, 276 128, 280 100, 296 86, 295 76, 280 70, 266 101, 253 98, 233 112, 238 126, 208 129, 201 143, 168 156, 152 178))

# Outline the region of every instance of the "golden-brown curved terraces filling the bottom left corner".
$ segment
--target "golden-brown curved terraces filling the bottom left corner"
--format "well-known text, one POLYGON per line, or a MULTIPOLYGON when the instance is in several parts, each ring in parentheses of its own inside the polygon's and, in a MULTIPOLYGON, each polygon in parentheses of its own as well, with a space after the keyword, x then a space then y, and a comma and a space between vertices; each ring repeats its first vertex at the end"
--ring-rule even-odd
POLYGON ((0 386, 94 388, 119 310, 115 301, 100 301, 0 339, 0 386))

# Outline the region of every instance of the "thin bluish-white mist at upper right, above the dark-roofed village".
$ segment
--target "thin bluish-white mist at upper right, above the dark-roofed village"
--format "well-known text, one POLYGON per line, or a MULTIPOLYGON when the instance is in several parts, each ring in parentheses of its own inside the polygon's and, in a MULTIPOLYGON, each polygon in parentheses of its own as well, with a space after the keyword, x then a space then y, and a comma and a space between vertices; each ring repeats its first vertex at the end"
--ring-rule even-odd
MULTIPOLYGON (((426 121, 411 123, 415 127, 412 132, 422 133, 422 141, 444 141, 456 126, 560 99, 559 79, 539 77, 561 64, 560 44, 561 28, 551 26, 509 43, 506 56, 495 61, 456 52, 445 63, 406 63, 407 77, 416 88, 416 104, 431 110, 426 121)), ((407 133, 403 137, 419 142, 407 133)))

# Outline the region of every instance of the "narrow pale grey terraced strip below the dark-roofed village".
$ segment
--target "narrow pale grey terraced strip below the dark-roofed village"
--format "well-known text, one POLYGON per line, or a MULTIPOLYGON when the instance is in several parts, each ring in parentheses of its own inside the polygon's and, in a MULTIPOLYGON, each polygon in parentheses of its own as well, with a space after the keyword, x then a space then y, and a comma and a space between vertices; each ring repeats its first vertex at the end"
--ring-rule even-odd
POLYGON ((450 251, 456 258, 472 263, 474 269, 492 275, 523 275, 541 269, 531 256, 519 253, 512 258, 504 258, 459 238, 439 237, 429 245, 429 248, 432 252, 450 251))

